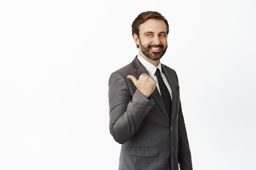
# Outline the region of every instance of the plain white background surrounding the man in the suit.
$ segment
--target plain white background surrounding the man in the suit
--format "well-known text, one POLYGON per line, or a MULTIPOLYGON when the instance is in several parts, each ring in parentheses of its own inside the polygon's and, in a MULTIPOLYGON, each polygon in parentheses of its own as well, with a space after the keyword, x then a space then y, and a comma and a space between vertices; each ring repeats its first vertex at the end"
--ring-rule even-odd
POLYGON ((255 0, 2 0, 1 170, 117 170, 108 78, 144 11, 170 25, 193 169, 256 169, 255 0))

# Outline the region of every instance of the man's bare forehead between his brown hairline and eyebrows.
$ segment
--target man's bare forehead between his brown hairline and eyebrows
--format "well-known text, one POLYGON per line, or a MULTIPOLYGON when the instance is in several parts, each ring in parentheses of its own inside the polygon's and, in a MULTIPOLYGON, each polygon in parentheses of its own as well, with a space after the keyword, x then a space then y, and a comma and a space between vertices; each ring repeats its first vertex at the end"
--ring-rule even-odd
POLYGON ((148 19, 139 25, 139 34, 146 32, 161 33, 166 32, 167 26, 163 20, 148 19))

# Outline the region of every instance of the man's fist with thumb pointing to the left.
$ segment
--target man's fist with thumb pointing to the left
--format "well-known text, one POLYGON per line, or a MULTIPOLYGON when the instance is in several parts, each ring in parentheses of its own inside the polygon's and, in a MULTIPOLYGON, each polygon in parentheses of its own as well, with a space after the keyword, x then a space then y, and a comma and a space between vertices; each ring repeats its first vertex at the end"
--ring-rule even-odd
POLYGON ((131 79, 137 89, 147 98, 153 93, 157 85, 157 81, 146 73, 141 74, 138 80, 133 75, 128 75, 127 78, 131 79))

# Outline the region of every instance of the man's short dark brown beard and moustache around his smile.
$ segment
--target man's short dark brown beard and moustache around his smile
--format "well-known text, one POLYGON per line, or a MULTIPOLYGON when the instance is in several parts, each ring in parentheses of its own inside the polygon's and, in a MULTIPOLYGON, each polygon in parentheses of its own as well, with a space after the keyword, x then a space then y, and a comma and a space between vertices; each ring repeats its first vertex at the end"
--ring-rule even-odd
POLYGON ((166 52, 167 50, 167 46, 164 48, 163 45, 149 45, 149 46, 144 46, 141 44, 141 41, 139 40, 139 46, 140 46, 140 49, 141 49, 141 52, 146 55, 146 57, 148 57, 149 59, 151 60, 160 60, 164 53, 166 52), (153 51, 150 51, 150 48, 152 47, 160 47, 162 50, 160 52, 153 52, 153 51))

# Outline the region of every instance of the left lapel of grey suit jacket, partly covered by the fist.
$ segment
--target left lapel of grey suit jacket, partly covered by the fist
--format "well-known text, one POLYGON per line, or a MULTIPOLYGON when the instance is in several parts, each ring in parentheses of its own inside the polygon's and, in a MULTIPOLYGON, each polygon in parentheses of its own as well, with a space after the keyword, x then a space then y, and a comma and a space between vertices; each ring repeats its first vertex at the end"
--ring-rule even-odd
MULTIPOLYGON (((135 59, 132 61, 132 65, 134 68, 137 69, 137 71, 135 71, 135 73, 137 74, 137 79, 139 78, 139 76, 143 73, 146 73, 149 75, 148 71, 146 70, 146 68, 141 64, 141 62, 139 62, 139 60, 137 59, 137 56, 135 57, 135 59)), ((158 105, 158 107, 160 108, 160 110, 162 111, 162 113, 164 114, 164 117, 168 120, 168 122, 170 123, 170 118, 168 116, 167 110, 164 106, 164 101, 159 93, 159 91, 157 90, 157 88, 155 88, 155 91, 151 94, 151 97, 153 97, 155 103, 158 105)))

